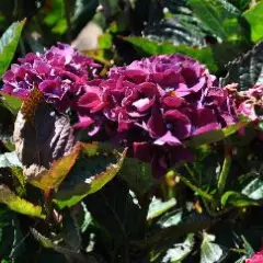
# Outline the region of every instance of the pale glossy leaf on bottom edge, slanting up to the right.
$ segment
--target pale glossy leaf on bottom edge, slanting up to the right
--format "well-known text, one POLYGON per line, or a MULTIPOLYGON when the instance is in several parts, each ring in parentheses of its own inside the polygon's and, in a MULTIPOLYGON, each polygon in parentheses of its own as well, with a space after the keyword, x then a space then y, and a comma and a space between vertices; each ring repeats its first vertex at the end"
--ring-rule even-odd
POLYGON ((162 263, 182 262, 193 250, 194 248, 194 235, 187 235, 186 239, 182 243, 175 243, 171 249, 165 252, 165 255, 162 258, 162 263))

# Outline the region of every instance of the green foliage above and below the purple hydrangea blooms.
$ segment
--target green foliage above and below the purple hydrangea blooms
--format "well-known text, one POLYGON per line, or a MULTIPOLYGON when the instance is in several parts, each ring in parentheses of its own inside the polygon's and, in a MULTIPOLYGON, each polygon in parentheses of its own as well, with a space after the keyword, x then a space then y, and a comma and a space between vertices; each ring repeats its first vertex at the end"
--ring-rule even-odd
MULTIPOLYGON (((180 53, 224 85, 263 82, 263 1, 1 0, 0 32, 0 76, 18 57, 66 42, 101 62, 101 76, 112 65, 180 53), (80 45, 88 23, 93 30, 80 45)), ((190 142, 196 160, 161 182, 125 149, 79 144, 27 183, 12 141, 20 107, 19 99, 1 96, 2 263, 238 263, 260 249, 263 145, 251 125, 242 138, 233 127, 220 130, 220 140, 215 134, 190 142)))

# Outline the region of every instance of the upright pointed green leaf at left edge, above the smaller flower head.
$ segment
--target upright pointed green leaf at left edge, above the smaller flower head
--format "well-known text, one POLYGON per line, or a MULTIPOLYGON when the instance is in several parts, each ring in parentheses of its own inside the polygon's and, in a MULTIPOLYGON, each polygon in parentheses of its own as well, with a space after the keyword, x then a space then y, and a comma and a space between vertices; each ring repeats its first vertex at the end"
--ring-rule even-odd
POLYGON ((15 54, 25 20, 13 23, 0 39, 0 77, 5 72, 15 54))

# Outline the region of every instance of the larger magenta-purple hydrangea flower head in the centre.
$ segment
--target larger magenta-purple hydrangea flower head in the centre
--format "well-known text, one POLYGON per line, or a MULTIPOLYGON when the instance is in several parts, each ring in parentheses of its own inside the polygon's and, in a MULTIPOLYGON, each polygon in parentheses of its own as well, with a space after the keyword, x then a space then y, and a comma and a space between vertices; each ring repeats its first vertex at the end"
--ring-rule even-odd
POLYGON ((155 56, 90 81, 78 101, 79 123, 90 135, 106 133, 151 163, 156 175, 191 152, 184 141, 236 122, 228 92, 208 69, 181 55, 155 56))

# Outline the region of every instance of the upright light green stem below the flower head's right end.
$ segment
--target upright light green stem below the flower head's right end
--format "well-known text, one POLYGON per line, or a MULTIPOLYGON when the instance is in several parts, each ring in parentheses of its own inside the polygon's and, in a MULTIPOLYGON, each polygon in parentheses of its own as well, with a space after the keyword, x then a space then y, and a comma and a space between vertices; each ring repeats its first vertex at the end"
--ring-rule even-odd
POLYGON ((219 196, 221 196, 224 193, 226 182, 227 182, 227 176, 228 176, 229 169, 231 165, 231 153, 230 153, 229 148, 230 148, 229 145, 227 144, 227 141, 225 141, 225 160, 224 160, 222 169, 219 174, 218 183, 217 183, 219 196))

